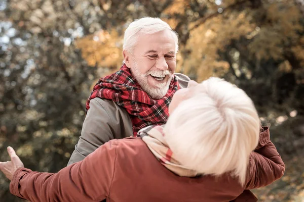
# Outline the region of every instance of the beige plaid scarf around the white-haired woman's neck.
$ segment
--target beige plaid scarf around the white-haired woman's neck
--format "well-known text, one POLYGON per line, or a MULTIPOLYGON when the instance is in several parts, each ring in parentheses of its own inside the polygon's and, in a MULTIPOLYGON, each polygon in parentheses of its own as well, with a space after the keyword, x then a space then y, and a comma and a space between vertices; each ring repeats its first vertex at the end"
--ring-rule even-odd
POLYGON ((138 135, 147 144, 154 156, 173 173, 183 177, 195 177, 199 175, 194 170, 181 165, 165 140, 163 126, 148 126, 138 131, 138 135))

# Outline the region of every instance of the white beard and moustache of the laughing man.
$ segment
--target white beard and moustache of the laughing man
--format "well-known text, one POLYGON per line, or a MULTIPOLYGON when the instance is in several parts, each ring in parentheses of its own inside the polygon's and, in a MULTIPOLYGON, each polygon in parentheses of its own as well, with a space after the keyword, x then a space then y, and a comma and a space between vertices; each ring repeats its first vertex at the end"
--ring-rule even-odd
MULTIPOLYGON (((156 70, 154 70, 154 71, 156 71, 156 70)), ((133 76, 136 78, 136 80, 139 83, 139 85, 141 86, 141 88, 148 95, 150 95, 150 97, 152 97, 153 99, 160 99, 166 95, 166 93, 169 90, 171 80, 173 78, 173 74, 170 71, 168 71, 168 70, 166 70, 166 71, 159 70, 159 71, 161 71, 163 73, 166 72, 165 74, 168 74, 169 78, 166 83, 158 83, 158 84, 156 84, 157 86, 155 87, 155 86, 151 86, 148 83, 147 76, 150 74, 150 71, 148 71, 146 74, 141 74, 139 72, 139 67, 136 62, 135 62, 135 67, 132 67, 133 76)))

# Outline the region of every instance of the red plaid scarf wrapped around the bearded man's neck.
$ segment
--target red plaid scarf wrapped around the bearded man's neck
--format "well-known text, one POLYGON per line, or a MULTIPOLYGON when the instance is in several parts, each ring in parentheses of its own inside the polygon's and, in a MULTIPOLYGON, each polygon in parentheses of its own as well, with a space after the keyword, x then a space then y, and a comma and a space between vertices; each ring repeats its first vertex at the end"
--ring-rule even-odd
POLYGON ((152 99, 142 90, 130 69, 124 64, 118 72, 99 79, 87 100, 86 113, 90 109, 91 99, 111 99, 130 114, 133 135, 137 136, 141 128, 166 123, 168 106, 178 89, 178 81, 173 76, 167 94, 161 99, 152 99))

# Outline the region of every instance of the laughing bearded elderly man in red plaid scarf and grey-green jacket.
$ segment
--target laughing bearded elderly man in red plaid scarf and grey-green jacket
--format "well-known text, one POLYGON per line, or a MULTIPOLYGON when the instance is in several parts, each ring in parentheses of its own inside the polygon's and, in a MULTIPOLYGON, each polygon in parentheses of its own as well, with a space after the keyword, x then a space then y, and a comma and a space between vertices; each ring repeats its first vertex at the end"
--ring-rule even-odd
POLYGON ((125 31, 124 64, 101 78, 88 101, 78 144, 68 165, 83 160, 111 139, 136 136, 149 125, 165 124, 174 92, 189 78, 174 73, 178 37, 158 18, 141 18, 125 31))

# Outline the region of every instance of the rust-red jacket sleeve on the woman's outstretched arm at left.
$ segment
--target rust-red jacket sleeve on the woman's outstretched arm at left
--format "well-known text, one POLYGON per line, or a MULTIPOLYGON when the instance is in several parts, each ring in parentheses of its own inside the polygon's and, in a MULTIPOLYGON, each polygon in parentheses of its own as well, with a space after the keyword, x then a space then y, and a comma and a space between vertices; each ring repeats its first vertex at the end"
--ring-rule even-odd
POLYGON ((12 194, 32 202, 101 201, 109 196, 115 170, 117 140, 100 146, 83 161, 58 173, 19 168, 10 184, 12 194))

